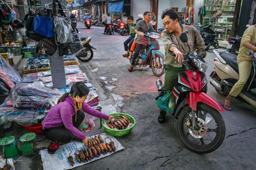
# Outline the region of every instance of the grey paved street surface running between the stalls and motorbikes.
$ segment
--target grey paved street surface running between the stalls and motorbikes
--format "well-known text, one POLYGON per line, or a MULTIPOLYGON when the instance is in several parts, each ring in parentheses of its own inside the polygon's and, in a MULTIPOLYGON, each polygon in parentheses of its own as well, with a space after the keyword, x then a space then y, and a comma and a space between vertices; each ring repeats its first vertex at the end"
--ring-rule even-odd
MULTIPOLYGON (((117 111, 134 116, 137 121, 128 136, 117 138, 125 150, 85 165, 89 170, 164 170, 164 169, 256 169, 253 149, 256 145, 255 108, 233 99, 233 111, 222 114, 226 125, 226 139, 221 147, 209 154, 199 155, 187 150, 180 141, 176 130, 176 119, 163 124, 157 122, 159 108, 155 105, 157 96, 156 80, 151 68, 136 67, 128 72, 130 62, 123 58, 123 42, 128 36, 102 34, 104 27, 84 28, 78 25, 81 37, 92 37, 97 48, 90 62, 81 63, 89 79, 99 84, 102 105, 116 105, 117 111), (91 72, 98 68, 98 71, 91 72), (106 78, 107 77, 107 78, 106 78), (116 79, 117 80, 116 80, 116 79), (116 102, 114 102, 116 100, 116 102), (250 155, 252 157, 250 157, 250 155)), ((161 40, 160 49, 163 51, 161 40)), ((206 61, 207 76, 213 71, 215 55, 212 48, 206 61)), ((160 78, 164 80, 164 75, 160 78)), ((224 97, 217 94, 208 83, 208 95, 218 102, 224 97)), ((97 120, 99 122, 99 120, 97 120)), ((99 123, 91 134, 104 132, 99 123)), ((76 168, 82 170, 85 167, 76 168)))

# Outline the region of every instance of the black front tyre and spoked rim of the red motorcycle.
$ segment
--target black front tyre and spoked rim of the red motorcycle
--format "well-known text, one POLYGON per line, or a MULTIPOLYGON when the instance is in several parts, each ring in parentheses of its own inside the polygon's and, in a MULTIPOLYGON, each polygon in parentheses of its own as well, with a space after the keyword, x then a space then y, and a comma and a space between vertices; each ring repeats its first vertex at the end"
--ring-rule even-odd
POLYGON ((218 147, 221 146, 222 142, 225 139, 226 127, 225 127, 224 120, 221 114, 216 109, 204 103, 198 104, 196 113, 197 113, 197 117, 203 119, 204 121, 210 118, 209 122, 208 123, 206 122, 207 133, 202 138, 195 138, 189 132, 185 132, 184 127, 188 129, 185 122, 188 118, 190 119, 190 115, 191 115, 191 108, 189 106, 185 106, 180 111, 180 115, 178 117, 178 122, 177 122, 177 131, 178 131, 180 140, 181 142, 183 142, 183 144, 186 145, 186 147, 189 148, 189 150, 192 150, 195 153, 213 152, 214 150, 218 149, 218 147), (209 114, 211 117, 206 116, 207 114, 209 114), (215 122, 212 122, 212 119, 215 122), (215 125, 217 127, 215 127, 215 129, 212 129, 212 128, 209 128, 209 125, 213 125, 213 126, 215 125), (212 133, 216 133, 214 139, 210 143, 208 143, 209 139, 208 140, 206 139, 208 136, 210 139, 212 139, 209 133, 210 135, 212 135, 212 133), (189 137, 190 138, 192 137, 193 142, 189 140, 189 137), (199 145, 199 143, 201 145, 199 145))

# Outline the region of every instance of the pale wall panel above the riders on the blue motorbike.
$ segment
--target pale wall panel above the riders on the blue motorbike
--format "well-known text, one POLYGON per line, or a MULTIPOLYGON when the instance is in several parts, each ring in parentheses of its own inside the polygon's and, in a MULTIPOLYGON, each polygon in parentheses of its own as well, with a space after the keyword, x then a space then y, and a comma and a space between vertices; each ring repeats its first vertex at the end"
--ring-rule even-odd
POLYGON ((133 0, 133 17, 136 21, 138 14, 143 14, 145 11, 150 11, 150 0, 133 0))

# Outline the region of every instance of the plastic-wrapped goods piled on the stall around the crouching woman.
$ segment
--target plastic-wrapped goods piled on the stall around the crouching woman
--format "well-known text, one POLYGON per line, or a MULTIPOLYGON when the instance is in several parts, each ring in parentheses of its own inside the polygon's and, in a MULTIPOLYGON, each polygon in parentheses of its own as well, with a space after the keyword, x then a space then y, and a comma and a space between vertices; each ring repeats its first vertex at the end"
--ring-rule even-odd
MULTIPOLYGON (((89 83, 86 74, 81 71, 78 65, 65 67, 67 88, 64 89, 53 88, 51 71, 24 74, 22 80, 17 72, 11 68, 10 66, 9 70, 13 70, 12 74, 15 76, 9 77, 9 79, 13 79, 12 88, 10 88, 12 90, 4 103, 0 105, 1 124, 15 121, 20 125, 32 126, 38 123, 38 120, 44 118, 47 111, 56 105, 58 99, 64 93, 69 92, 71 86, 76 82, 84 82, 90 89, 86 102, 97 110, 102 109, 96 88, 89 83)), ((94 119, 96 117, 85 114, 83 126, 79 129, 83 132, 92 130, 95 126, 94 119)))

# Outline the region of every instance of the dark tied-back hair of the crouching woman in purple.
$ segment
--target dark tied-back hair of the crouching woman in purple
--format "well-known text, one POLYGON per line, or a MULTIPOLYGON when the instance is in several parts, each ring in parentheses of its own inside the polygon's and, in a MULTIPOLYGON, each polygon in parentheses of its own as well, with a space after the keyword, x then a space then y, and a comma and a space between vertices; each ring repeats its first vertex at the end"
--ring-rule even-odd
MULTIPOLYGON (((89 88, 83 83, 83 82, 76 82, 75 84, 72 85, 70 94, 72 97, 83 97, 86 96, 89 93, 89 88)), ((65 93, 61 96, 61 98, 58 99, 57 104, 60 102, 64 102, 65 98, 69 95, 69 93, 65 93)))

